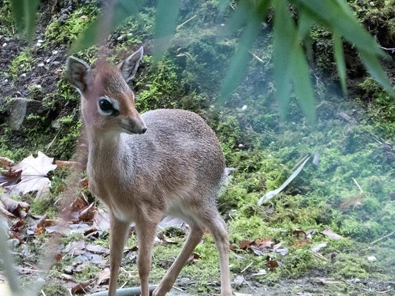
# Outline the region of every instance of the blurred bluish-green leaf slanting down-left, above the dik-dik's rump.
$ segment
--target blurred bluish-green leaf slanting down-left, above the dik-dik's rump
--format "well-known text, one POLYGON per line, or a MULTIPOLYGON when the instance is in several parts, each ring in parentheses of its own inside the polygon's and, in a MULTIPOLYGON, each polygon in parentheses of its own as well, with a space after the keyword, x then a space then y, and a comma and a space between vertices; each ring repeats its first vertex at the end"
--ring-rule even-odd
POLYGON ((258 36, 261 22, 253 18, 247 25, 242 37, 239 40, 239 48, 230 61, 229 68, 222 82, 218 104, 223 104, 227 97, 239 86, 246 76, 248 62, 250 60, 249 50, 258 36))

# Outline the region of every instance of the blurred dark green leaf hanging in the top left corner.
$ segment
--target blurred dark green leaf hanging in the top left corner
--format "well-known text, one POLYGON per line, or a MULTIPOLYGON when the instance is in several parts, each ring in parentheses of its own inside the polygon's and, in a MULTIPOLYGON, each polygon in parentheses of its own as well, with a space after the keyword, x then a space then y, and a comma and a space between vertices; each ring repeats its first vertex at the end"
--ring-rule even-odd
POLYGON ((34 33, 39 0, 10 0, 12 15, 19 31, 31 38, 34 33))

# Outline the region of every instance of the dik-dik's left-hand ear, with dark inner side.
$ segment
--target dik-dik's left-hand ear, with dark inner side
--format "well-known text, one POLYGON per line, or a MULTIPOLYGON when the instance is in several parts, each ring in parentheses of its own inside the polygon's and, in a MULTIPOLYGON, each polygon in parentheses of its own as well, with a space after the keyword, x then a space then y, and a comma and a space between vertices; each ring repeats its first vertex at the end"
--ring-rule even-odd
POLYGON ((89 79, 91 79, 89 65, 80 59, 70 56, 66 60, 66 66, 67 80, 81 94, 85 93, 88 88, 89 79))

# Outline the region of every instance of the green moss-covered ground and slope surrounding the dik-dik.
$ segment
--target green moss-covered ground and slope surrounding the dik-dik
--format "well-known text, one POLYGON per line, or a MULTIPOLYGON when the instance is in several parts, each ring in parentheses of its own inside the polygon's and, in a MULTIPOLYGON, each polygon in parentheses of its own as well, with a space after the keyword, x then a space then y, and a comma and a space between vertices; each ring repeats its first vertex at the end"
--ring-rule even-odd
MULTIPOLYGON (((325 30, 314 27, 311 39, 316 66, 312 77, 315 79, 318 124, 314 127, 307 125, 293 98, 287 121, 280 122, 273 99, 269 23, 251 50, 260 60, 251 56, 246 80, 223 106, 216 107, 215 98, 229 57, 237 47, 238 34, 223 37, 216 33, 216 28, 226 18, 226 15, 218 17, 216 0, 185 3, 179 23, 196 17, 177 30, 171 48, 156 67, 152 66, 149 54, 154 17, 152 5, 140 13, 140 21, 131 19, 111 35, 110 60, 119 62, 141 44, 145 45, 148 54, 133 82, 138 111, 165 107, 198 112, 220 139, 226 164, 234 168, 228 186, 218 198, 218 207, 228 225, 230 269, 232 278, 243 275, 248 282, 234 285, 234 290, 259 295, 297 295, 302 292, 377 295, 380 291, 395 288, 395 236, 371 244, 395 231, 393 98, 366 76, 355 54, 352 55, 351 47, 345 49, 350 92, 344 98, 334 74, 331 37, 325 30), (350 118, 345 119, 341 116, 343 113, 350 118), (306 154, 319 155, 318 164, 313 164, 311 158, 285 190, 268 204, 258 206, 258 199, 281 186, 306 154), (353 179, 365 197, 361 205, 346 208, 342 206, 343 202, 360 195, 353 179), (343 238, 334 240, 323 235, 321 232, 328 227, 343 238), (298 246, 293 234, 295 229, 315 229, 311 244, 298 246), (257 238, 283 242, 289 252, 285 256, 280 253, 257 256, 251 250, 241 248, 242 240, 257 238), (310 251, 311 246, 323 242, 327 245, 318 253, 310 251), (268 271, 265 266, 267 256, 277 260, 280 266, 268 271), (376 261, 369 261, 371 256, 376 261), (261 270, 267 273, 255 275, 261 270)), ((375 1, 373 5, 365 0, 349 3, 361 21, 377 35, 381 45, 389 47, 395 36, 393 1, 375 1), (382 34, 383 28, 385 34, 382 34)), ((0 34, 9 36, 8 43, 16 45, 12 56, 0 55, 2 62, 7 62, 7 67, 0 69, 0 80, 9 81, 7 84, 0 82, 3 83, 0 84, 3 88, 0 92, 2 108, 7 109, 7 102, 13 97, 23 96, 41 101, 45 109, 42 114, 30 114, 18 133, 2 122, 0 155, 15 161, 37 151, 69 160, 81 135, 80 98, 62 74, 65 46, 72 43, 100 8, 94 0, 75 0, 68 18, 59 22, 56 13, 60 11, 60 4, 53 8, 52 17, 48 15, 50 6, 43 4, 41 8, 37 38, 44 39, 44 43, 37 47, 18 40, 10 30, 12 21, 8 1, 0 4, 0 34), (46 64, 43 72, 37 67, 43 55, 52 55, 61 63, 46 64), (21 77, 22 73, 26 73, 26 77, 21 77), (41 82, 49 76, 55 78, 47 80, 47 84, 41 82), (34 83, 42 84, 42 89, 34 91, 30 86, 34 83)), ((90 48, 76 56, 93 62, 97 49, 90 48)), ((391 59, 385 67, 392 76, 395 68, 391 59)), ((46 213, 56 217, 58 208, 54 201, 65 188, 66 173, 55 173, 51 193, 43 199, 23 197, 32 203, 33 214, 46 213)), ((155 245, 150 277, 153 283, 160 280, 184 241, 179 232, 168 231, 166 235, 175 243, 162 241, 155 245)), ((48 235, 44 233, 27 246, 38 256, 40 246, 47 239, 48 235)), ((63 244, 78 239, 87 238, 65 237, 63 244)), ((108 233, 88 240, 108 246, 108 233)), ((133 233, 127 245, 136 246, 133 233)), ((218 294, 218 255, 210 235, 204 236, 195 252, 199 259, 187 263, 176 286, 194 295, 218 294)), ((28 262, 36 264, 37 260, 32 257, 28 262)), ((43 288, 47 296, 66 293, 56 277, 70 264, 72 259, 66 257, 52 268, 43 288)), ((138 285, 135 260, 125 259, 123 268, 120 285, 138 285)), ((87 281, 95 278, 100 269, 88 265, 73 277, 81 282, 87 281)), ((29 277, 25 278, 28 285, 29 277)))

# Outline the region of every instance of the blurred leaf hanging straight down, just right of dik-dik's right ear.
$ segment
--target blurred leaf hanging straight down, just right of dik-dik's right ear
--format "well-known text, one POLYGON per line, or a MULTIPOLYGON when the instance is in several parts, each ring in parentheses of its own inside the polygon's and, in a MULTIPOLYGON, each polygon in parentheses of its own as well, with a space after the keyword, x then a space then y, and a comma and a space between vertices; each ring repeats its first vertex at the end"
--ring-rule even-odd
POLYGON ((157 63, 168 48, 176 28, 180 0, 157 0, 153 40, 153 63, 157 63))

